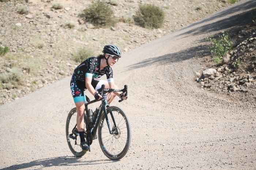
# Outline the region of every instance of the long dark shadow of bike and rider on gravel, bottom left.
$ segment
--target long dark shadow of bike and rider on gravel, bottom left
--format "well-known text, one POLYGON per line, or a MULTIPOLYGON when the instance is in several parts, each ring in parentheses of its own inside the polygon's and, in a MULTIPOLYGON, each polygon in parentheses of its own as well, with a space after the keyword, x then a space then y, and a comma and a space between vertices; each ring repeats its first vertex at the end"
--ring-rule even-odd
POLYGON ((110 159, 106 160, 92 160, 92 161, 87 161, 84 160, 86 159, 85 157, 54 157, 54 158, 46 158, 46 159, 38 159, 35 161, 27 162, 27 163, 22 163, 22 164, 16 164, 12 166, 5 167, 0 170, 6 170, 6 169, 43 169, 43 168, 48 168, 48 167, 63 167, 64 169, 67 169, 69 166, 81 166, 81 165, 100 165, 106 163, 112 163, 116 161, 112 161, 110 159), (103 161, 103 162, 102 162, 103 161), (34 168, 33 168, 34 167, 34 168))

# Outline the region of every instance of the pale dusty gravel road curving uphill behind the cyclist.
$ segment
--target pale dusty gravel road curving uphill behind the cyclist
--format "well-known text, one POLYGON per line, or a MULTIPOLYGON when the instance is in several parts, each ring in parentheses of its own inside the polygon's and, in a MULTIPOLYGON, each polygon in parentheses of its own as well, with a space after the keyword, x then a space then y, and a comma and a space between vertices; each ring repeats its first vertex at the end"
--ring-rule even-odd
POLYGON ((107 159, 97 140, 83 157, 72 155, 65 121, 75 105, 65 78, 0 107, 0 168, 256 169, 255 103, 233 102, 193 82, 204 39, 239 29, 255 7, 255 0, 241 0, 122 56, 114 79, 120 88, 128 84, 129 98, 112 105, 132 125, 123 159, 107 159))

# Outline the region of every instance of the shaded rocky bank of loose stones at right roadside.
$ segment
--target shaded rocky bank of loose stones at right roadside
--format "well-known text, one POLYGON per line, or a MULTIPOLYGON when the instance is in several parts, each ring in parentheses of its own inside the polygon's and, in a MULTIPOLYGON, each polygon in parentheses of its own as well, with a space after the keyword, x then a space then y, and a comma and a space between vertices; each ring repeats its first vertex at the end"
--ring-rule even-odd
POLYGON ((250 25, 235 32, 231 39, 234 48, 223 57, 221 64, 214 63, 211 56, 204 57, 202 70, 196 75, 196 81, 202 90, 210 90, 231 100, 255 103, 255 30, 256 25, 252 21, 250 25))

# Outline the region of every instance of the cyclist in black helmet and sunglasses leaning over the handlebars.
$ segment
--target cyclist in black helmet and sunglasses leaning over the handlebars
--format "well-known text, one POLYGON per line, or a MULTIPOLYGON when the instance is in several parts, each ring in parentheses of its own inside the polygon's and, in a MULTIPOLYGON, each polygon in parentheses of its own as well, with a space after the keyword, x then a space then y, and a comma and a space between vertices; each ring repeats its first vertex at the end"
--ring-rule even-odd
MULTIPOLYGON (((102 98, 97 92, 102 84, 105 84, 105 88, 119 89, 114 84, 113 71, 110 66, 113 66, 121 58, 121 51, 116 46, 107 45, 102 52, 103 55, 88 58, 76 67, 70 81, 71 93, 77 111, 76 124, 81 140, 80 146, 84 151, 90 149, 84 139, 84 89, 88 89, 97 100, 102 98), (106 74, 108 81, 98 79, 104 74, 106 74)), ((116 95, 123 100, 128 98, 124 93, 112 92, 107 94, 108 103, 111 103, 116 95)))

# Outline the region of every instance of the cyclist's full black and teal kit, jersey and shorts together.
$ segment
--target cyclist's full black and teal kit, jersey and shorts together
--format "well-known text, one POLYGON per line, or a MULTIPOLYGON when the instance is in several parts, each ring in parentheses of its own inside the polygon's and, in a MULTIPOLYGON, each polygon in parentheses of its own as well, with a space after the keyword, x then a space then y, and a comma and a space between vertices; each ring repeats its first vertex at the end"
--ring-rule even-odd
POLYGON ((99 83, 101 76, 106 74, 108 82, 113 82, 113 71, 110 66, 104 67, 99 71, 101 65, 101 58, 91 57, 82 62, 75 68, 74 74, 70 81, 70 90, 74 99, 74 102, 82 102, 84 100, 85 77, 91 77, 91 84, 95 89, 99 83))

